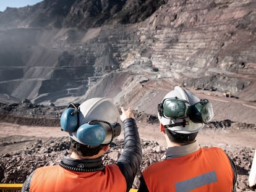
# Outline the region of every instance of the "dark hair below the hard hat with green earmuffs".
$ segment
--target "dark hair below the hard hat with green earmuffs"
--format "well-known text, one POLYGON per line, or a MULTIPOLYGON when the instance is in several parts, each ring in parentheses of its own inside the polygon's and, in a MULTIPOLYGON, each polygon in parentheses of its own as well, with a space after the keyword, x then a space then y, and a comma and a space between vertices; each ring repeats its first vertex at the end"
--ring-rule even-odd
POLYGON ((177 133, 175 131, 169 130, 166 127, 164 127, 164 130, 170 141, 181 144, 181 145, 194 143, 195 137, 197 136, 197 133, 198 133, 198 132, 190 133, 190 134, 177 133))

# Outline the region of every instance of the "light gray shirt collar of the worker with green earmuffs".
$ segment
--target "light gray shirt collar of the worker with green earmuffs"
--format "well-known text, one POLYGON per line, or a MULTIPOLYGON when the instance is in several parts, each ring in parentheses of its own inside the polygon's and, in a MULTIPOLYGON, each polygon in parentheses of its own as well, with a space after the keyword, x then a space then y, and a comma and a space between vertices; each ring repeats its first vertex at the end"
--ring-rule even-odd
POLYGON ((192 152, 197 151, 198 149, 200 149, 200 147, 197 141, 183 146, 171 147, 166 150, 166 159, 173 159, 177 157, 186 156, 192 152))

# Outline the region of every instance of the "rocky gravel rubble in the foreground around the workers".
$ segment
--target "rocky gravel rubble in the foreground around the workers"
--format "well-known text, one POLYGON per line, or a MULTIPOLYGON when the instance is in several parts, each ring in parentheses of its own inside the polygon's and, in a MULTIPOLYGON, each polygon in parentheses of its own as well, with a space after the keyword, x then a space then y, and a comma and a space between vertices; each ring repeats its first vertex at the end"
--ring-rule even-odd
MULTIPOLYGON (((144 170, 148 165, 161 161, 165 149, 155 141, 141 140, 143 159, 140 165, 144 170)), ((7 147, 19 144, 20 149, 5 154, 0 154, 0 180, 1 183, 23 183, 27 176, 37 167, 56 165, 62 156, 69 152, 69 137, 62 138, 20 138, 10 136, 0 138, 0 146, 7 147)), ((111 148, 103 156, 104 164, 115 163, 122 153, 123 140, 116 140, 111 148)), ((207 146, 202 146, 207 147, 207 146)), ((237 191, 256 191, 256 188, 249 188, 248 177, 251 167, 254 149, 226 146, 224 151, 234 160, 237 166, 237 191)), ((139 185, 138 177, 134 180, 134 188, 139 185)))

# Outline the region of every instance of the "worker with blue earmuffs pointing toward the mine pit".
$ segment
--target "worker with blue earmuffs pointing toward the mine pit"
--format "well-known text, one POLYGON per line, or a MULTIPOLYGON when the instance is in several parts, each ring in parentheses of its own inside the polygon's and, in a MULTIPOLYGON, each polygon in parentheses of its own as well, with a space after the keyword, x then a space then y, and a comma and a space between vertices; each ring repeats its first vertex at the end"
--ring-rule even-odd
POLYGON ((22 191, 129 191, 142 161, 138 128, 132 107, 122 114, 110 98, 92 98, 70 104, 61 115, 61 128, 70 135, 71 153, 59 165, 32 172, 22 191), (101 156, 124 127, 124 152, 116 164, 101 156))

